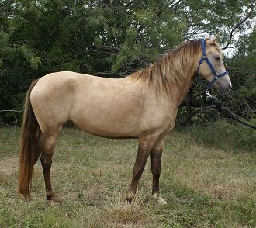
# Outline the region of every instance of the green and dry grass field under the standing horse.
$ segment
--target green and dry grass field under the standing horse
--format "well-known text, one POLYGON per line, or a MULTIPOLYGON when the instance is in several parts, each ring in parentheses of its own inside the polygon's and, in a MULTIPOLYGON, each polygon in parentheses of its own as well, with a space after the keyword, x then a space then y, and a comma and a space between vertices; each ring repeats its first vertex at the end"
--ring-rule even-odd
POLYGON ((125 201, 137 140, 64 129, 52 168, 58 206, 45 199, 39 163, 32 201, 17 194, 19 128, 1 128, 0 143, 0 227, 256 226, 256 151, 250 143, 237 146, 232 133, 192 128, 167 137, 160 184, 165 206, 150 198, 150 162, 136 199, 125 201))

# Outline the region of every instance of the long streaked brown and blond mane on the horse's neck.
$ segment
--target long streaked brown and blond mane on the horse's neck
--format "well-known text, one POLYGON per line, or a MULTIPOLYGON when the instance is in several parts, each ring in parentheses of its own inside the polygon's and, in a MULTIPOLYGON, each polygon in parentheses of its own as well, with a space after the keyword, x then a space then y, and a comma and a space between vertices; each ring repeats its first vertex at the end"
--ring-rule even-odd
MULTIPOLYGON (((214 42, 213 45, 221 52, 218 43, 214 42)), ((202 55, 201 41, 188 40, 167 54, 162 55, 159 60, 150 64, 146 69, 134 72, 128 77, 133 81, 140 81, 140 84, 146 90, 150 89, 156 94, 164 93, 164 95, 168 95, 171 85, 174 83, 181 85, 182 78, 188 78, 188 74, 195 74, 195 70, 193 71, 191 68, 191 63, 200 55, 202 55)))

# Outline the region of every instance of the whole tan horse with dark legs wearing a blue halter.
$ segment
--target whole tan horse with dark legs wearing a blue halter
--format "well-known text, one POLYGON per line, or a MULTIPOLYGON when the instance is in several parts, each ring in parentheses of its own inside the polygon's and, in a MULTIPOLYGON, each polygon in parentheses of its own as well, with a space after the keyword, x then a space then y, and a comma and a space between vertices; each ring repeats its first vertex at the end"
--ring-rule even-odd
POLYGON ((126 199, 135 196, 150 155, 152 197, 166 203, 159 188, 164 137, 175 126, 178 106, 195 74, 223 93, 231 89, 216 38, 188 40, 125 78, 62 71, 33 81, 26 92, 22 121, 19 193, 30 199, 33 167, 40 157, 47 200, 58 202, 50 182, 50 168, 58 135, 64 123, 71 120, 95 136, 137 138, 139 146, 126 199))

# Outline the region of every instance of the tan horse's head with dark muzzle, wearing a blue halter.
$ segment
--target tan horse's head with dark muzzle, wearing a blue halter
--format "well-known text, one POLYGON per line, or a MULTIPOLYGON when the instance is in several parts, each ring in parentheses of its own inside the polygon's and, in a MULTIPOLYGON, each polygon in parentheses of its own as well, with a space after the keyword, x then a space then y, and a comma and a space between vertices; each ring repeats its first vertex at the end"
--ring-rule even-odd
POLYGON ((210 39, 201 40, 202 58, 199 61, 197 74, 209 81, 206 89, 213 85, 219 88, 221 93, 226 94, 230 92, 232 86, 228 72, 223 64, 222 49, 216 43, 217 37, 218 35, 210 39))

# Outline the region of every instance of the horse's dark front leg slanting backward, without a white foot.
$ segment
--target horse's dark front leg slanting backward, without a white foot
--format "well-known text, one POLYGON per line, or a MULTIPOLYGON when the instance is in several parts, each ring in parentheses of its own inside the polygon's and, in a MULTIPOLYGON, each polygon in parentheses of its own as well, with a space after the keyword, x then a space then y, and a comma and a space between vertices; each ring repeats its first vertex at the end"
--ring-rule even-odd
POLYGON ((133 167, 133 179, 130 184, 129 191, 127 193, 126 199, 131 201, 137 191, 137 185, 140 180, 141 174, 144 171, 145 164, 147 162, 147 157, 149 156, 154 143, 157 138, 154 136, 147 136, 139 138, 139 148, 137 152, 136 161, 133 167))

